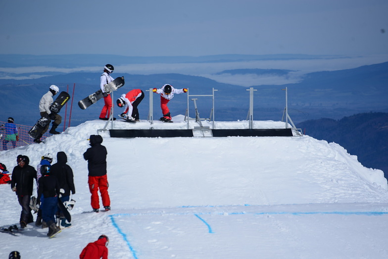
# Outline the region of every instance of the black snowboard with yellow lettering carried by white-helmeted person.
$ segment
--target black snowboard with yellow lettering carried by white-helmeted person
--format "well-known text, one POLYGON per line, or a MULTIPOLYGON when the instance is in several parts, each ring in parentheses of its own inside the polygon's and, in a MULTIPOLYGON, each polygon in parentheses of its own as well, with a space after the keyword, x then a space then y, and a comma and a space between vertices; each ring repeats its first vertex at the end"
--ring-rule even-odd
MULTIPOLYGON (((70 100, 70 95, 66 92, 61 92, 54 102, 48 108, 51 112, 58 113, 60 109, 70 100)), ((42 131, 50 124, 50 118, 48 116, 40 118, 37 123, 30 129, 28 135, 31 138, 36 139, 42 131)))

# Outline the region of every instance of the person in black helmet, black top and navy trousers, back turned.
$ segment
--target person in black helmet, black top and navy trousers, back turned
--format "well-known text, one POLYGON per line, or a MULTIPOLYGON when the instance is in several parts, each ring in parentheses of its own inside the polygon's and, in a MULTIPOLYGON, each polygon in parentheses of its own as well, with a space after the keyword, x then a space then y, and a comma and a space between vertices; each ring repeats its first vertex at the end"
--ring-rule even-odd
POLYGON ((55 176, 51 175, 50 166, 44 164, 41 166, 42 177, 39 178, 37 205, 41 203, 41 197, 45 198, 42 204, 42 219, 48 225, 49 237, 59 233, 61 230, 55 224, 55 212, 58 208, 59 183, 55 176))

